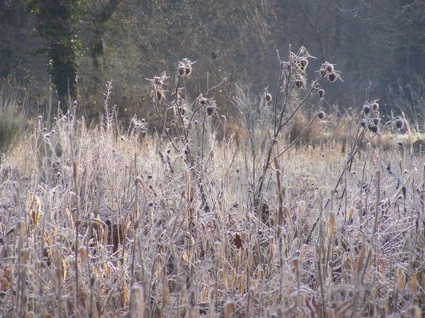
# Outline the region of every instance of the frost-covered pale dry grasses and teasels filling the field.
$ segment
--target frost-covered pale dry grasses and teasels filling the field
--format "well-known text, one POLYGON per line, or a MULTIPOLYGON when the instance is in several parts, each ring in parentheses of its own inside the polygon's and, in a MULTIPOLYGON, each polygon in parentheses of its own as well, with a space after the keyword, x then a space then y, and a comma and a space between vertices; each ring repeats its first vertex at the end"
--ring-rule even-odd
POLYGON ((375 101, 324 114, 318 83, 339 73, 325 62, 309 82, 309 60, 290 53, 259 100, 235 88, 238 142, 211 96, 220 83, 189 101, 188 59, 151 80, 157 134, 118 124, 111 83, 101 124, 33 119, 1 163, 0 312, 421 317, 420 135, 375 101))

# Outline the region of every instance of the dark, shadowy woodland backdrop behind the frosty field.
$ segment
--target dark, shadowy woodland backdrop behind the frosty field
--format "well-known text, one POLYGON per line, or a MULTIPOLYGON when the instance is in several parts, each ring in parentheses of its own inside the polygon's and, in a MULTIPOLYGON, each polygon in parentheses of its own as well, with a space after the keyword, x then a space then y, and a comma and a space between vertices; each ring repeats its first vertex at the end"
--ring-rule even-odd
POLYGON ((183 57, 197 61, 189 94, 205 88, 207 72, 209 83, 229 79, 215 96, 223 112, 234 83, 253 93, 273 86, 276 49, 289 45, 317 57, 311 71, 325 59, 337 64, 344 83, 327 96, 341 107, 381 98, 389 111, 399 107, 397 90, 425 77, 419 0, 4 0, 0 36, 1 77, 42 88, 49 74, 58 98, 78 98, 88 116, 111 78, 118 113, 149 116, 145 78, 183 57))

